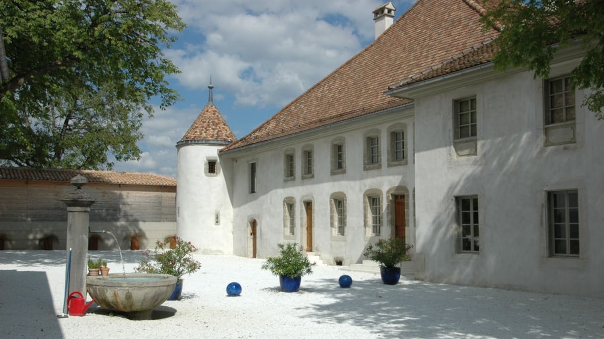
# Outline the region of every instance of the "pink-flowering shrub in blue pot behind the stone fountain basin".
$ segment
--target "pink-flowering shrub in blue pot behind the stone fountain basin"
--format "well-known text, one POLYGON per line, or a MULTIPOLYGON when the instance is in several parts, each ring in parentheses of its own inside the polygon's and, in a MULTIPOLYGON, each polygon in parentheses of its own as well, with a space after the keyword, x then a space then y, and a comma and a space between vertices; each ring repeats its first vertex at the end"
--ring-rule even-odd
POLYGON ((143 252, 147 259, 141 261, 135 270, 175 276, 178 279, 176 287, 168 300, 179 300, 182 293, 182 276, 199 270, 201 263, 193 258, 197 248, 190 241, 184 241, 177 236, 174 249, 167 249, 166 245, 163 241, 156 241, 153 252, 143 252))

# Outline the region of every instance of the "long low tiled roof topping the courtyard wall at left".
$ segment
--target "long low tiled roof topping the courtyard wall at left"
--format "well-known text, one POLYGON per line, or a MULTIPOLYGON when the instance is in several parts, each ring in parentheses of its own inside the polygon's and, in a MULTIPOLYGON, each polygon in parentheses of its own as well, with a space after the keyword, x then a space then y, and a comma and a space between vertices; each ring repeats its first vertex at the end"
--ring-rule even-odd
POLYGON ((151 173, 93 171, 93 170, 49 170, 40 168, 0 166, 0 180, 31 180, 43 182, 69 182, 81 174, 89 183, 110 183, 149 186, 176 186, 176 179, 151 173))

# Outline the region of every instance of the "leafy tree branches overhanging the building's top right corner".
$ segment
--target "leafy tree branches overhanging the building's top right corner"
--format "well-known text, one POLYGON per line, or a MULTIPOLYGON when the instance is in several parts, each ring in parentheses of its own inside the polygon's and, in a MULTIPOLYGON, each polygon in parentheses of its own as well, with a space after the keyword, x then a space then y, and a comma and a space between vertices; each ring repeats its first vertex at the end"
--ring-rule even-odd
POLYGON ((591 89, 583 105, 599 119, 604 107, 604 2, 602 0, 486 0, 483 22, 499 25, 496 69, 527 67, 547 78, 556 51, 579 44, 585 51, 573 72, 578 89, 591 89))

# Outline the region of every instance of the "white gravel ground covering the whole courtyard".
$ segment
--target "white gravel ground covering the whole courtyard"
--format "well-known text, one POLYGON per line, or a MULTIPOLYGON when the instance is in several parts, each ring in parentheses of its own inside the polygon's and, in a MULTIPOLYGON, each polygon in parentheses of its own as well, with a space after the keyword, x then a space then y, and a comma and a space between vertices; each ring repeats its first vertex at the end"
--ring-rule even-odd
MULTIPOLYGON (((91 252, 120 272, 117 252, 91 252)), ((124 252, 133 271, 141 252, 124 252)), ((0 338, 604 338, 604 300, 402 279, 319 265, 298 293, 279 291, 263 259, 196 255, 182 300, 128 320, 96 304, 62 313, 65 252, 0 252, 0 338), (340 288, 349 274, 352 288, 340 288), (239 297, 226 285, 239 282, 239 297)), ((604 282, 603 282, 604 284, 604 282)))

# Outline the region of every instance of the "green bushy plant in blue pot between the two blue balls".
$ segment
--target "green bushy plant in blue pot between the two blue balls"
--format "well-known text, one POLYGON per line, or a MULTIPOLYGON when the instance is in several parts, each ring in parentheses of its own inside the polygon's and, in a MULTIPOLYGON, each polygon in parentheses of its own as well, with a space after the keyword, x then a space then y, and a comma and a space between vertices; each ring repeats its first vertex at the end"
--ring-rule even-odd
POLYGON ((269 256, 262 264, 263 270, 269 270, 279 277, 279 285, 283 292, 297 292, 300 289, 301 277, 312 273, 316 262, 310 262, 301 246, 295 242, 277 244, 278 256, 269 256))

